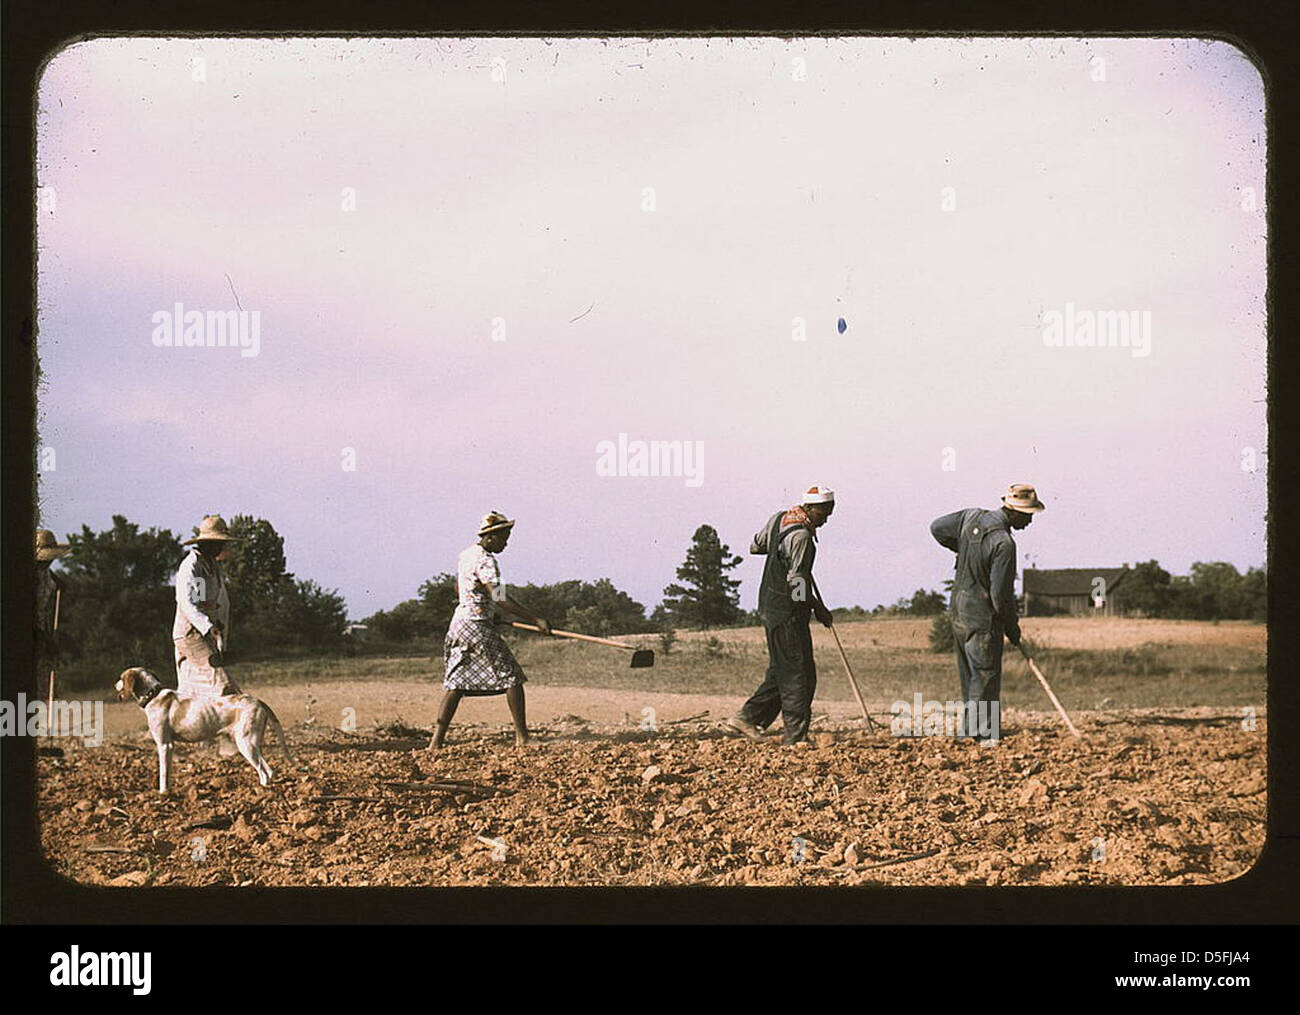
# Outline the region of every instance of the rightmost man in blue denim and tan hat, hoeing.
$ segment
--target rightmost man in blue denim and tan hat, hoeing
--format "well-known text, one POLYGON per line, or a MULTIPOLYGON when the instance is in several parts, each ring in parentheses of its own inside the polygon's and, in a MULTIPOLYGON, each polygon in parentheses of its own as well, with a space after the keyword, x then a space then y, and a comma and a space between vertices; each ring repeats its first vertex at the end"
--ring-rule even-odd
POLYGON ((966 724, 958 736, 996 741, 1002 694, 1002 636, 1020 643, 1015 606, 1015 539, 1044 504, 1028 483, 1013 483, 1001 511, 966 508, 935 519, 930 532, 957 554, 949 615, 957 649, 957 675, 966 702, 966 724), (980 712, 980 703, 985 703, 980 712), (993 707, 993 703, 997 707, 993 707), (971 720, 978 728, 971 729, 971 720))

